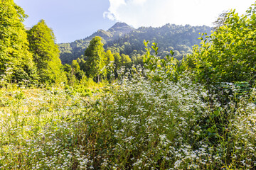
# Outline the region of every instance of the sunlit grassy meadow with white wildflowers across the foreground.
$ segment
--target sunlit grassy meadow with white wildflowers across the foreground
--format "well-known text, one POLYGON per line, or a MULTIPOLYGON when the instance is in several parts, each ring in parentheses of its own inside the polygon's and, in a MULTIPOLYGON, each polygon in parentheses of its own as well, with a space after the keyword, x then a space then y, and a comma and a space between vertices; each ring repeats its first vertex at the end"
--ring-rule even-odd
POLYGON ((142 74, 88 95, 83 87, 1 89, 0 169, 255 169, 249 96, 220 103, 188 77, 142 74))

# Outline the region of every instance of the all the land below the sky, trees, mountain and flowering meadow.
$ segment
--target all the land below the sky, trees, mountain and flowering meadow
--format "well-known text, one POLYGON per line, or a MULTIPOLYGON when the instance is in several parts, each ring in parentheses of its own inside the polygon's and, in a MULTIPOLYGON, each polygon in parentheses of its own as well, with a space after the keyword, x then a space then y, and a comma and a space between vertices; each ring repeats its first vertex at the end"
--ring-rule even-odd
POLYGON ((256 1, 65 44, 27 17, 0 1, 0 169, 256 169, 256 1))

